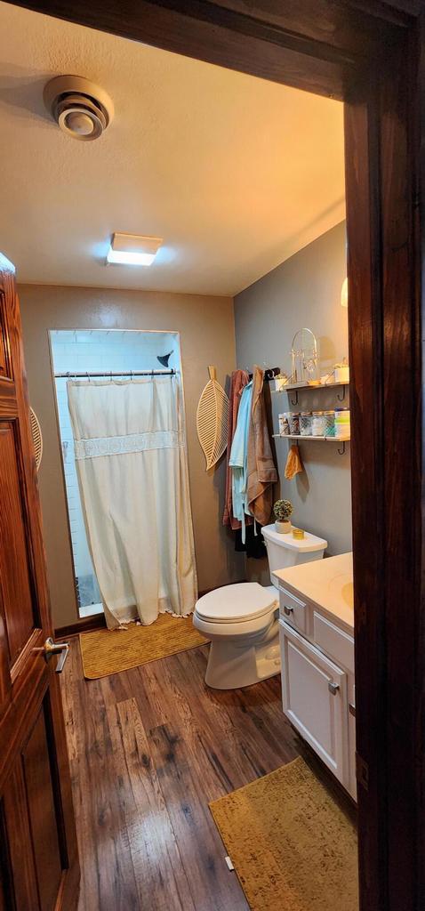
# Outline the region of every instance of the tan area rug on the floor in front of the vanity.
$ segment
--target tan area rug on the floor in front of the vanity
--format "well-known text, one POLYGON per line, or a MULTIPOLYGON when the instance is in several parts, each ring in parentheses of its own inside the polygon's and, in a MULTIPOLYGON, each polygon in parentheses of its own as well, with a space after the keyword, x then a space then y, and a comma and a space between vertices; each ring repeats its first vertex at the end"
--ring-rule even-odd
POLYGON ((252 911, 359 911, 354 825, 304 760, 209 808, 252 911))

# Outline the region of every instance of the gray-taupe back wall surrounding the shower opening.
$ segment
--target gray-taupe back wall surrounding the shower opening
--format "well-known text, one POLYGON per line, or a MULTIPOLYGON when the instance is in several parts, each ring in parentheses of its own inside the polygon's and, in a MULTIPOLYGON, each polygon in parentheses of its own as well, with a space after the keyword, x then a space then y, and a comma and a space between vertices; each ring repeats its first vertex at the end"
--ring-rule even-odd
POLYGON ((207 383, 207 365, 224 383, 235 367, 233 302, 230 298, 157 292, 107 291, 20 285, 29 397, 44 435, 39 474, 47 571, 56 626, 77 619, 73 567, 55 390, 49 358, 49 329, 158 329, 180 333, 187 415, 187 449, 199 589, 244 577, 244 562, 222 527, 225 466, 206 474, 197 442, 197 400, 207 383))

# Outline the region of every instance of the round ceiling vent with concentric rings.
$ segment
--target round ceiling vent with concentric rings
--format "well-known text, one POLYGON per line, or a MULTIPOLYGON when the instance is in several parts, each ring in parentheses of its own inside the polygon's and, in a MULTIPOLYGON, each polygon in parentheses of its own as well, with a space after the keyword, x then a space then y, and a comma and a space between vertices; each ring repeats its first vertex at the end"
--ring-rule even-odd
POLYGON ((101 136, 114 115, 114 105, 104 89, 81 76, 51 79, 43 97, 63 132, 85 142, 101 136))

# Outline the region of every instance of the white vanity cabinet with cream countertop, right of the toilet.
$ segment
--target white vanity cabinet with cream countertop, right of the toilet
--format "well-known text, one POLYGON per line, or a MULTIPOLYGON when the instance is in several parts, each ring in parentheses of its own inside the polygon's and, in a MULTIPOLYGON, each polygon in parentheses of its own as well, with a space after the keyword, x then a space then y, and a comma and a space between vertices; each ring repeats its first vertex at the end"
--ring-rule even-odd
POLYGON ((356 799, 352 555, 278 570, 283 711, 356 799))

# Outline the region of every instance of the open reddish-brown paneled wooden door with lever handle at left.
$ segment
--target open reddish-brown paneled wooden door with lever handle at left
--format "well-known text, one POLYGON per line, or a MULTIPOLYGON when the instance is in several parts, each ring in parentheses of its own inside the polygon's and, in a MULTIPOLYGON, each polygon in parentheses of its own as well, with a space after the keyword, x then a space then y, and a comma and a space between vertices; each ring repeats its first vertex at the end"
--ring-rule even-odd
POLYGON ((0 911, 72 911, 79 868, 14 268, 0 254, 0 911))

